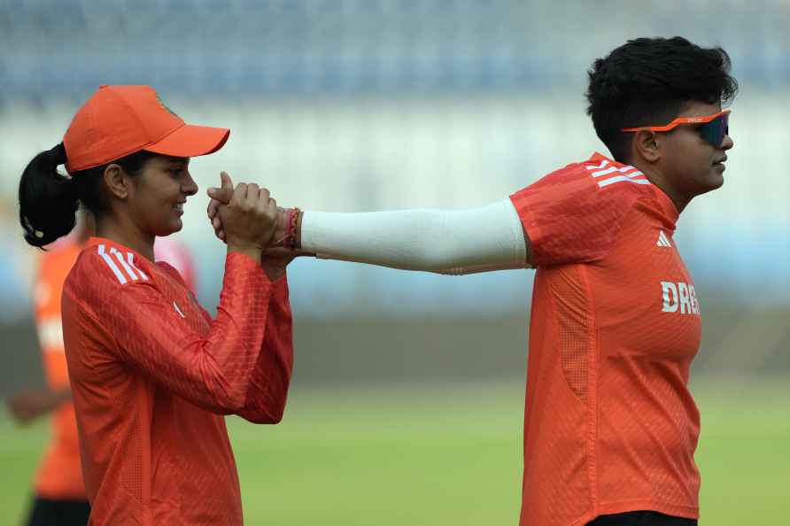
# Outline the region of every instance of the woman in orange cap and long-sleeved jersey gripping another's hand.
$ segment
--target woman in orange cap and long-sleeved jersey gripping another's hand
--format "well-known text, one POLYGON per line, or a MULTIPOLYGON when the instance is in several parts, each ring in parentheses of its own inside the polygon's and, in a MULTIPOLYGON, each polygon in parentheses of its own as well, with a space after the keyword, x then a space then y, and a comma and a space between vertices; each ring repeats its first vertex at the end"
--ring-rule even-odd
POLYGON ((103 86, 22 174, 29 244, 65 236, 80 204, 97 223, 62 301, 89 524, 242 524, 222 415, 282 418, 291 317, 284 262, 261 260, 277 211, 268 191, 239 184, 221 212, 215 320, 173 267, 154 263, 155 238, 182 228, 197 192, 190 158, 228 134, 185 124, 150 87, 103 86))

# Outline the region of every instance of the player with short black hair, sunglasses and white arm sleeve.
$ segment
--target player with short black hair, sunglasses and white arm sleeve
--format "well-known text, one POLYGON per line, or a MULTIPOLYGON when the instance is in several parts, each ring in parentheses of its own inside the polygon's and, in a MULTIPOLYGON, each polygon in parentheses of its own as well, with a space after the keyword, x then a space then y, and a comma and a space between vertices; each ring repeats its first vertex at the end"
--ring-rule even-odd
MULTIPOLYGON (((611 158, 472 210, 279 213, 273 239, 322 258, 445 274, 537 267, 523 526, 697 524, 688 380, 701 315, 672 235, 693 197, 724 183, 729 71, 721 48, 632 40, 589 72, 588 113, 611 158)), ((232 188, 209 190, 220 238, 232 188)))

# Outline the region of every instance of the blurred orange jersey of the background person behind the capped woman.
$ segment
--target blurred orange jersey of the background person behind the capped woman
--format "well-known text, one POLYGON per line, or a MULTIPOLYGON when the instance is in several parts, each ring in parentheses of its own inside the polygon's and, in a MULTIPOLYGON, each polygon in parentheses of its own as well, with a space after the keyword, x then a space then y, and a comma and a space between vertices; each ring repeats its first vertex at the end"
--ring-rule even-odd
MULTIPOLYGON (((50 389, 68 386, 66 354, 60 321, 60 295, 81 245, 69 241, 43 252, 35 282, 35 325, 50 389)), ((35 479, 35 492, 46 499, 84 500, 80 443, 74 406, 64 403, 53 412, 52 438, 35 479)))

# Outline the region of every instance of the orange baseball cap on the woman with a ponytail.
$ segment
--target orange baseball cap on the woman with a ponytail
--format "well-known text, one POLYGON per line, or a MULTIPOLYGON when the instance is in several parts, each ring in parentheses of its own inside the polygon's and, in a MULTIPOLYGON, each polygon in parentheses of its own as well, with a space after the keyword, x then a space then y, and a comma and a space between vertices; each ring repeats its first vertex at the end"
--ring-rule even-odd
POLYGON ((69 173, 102 166, 136 151, 197 157, 219 150, 227 128, 186 124, 151 86, 101 86, 63 136, 69 173))

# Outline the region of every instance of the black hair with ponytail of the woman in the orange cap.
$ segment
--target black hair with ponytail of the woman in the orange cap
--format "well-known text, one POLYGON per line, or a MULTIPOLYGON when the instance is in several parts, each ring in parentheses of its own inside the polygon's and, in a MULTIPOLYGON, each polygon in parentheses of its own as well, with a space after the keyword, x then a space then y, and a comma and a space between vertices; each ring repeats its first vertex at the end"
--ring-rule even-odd
MULTIPOLYGON (((137 151, 113 160, 112 164, 135 177, 143 171, 145 162, 156 155, 137 151)), ((107 210, 103 181, 111 163, 62 174, 58 166, 65 164, 66 148, 59 143, 27 163, 19 181, 19 223, 25 230, 25 241, 35 247, 43 248, 71 232, 80 204, 97 219, 107 210)))

